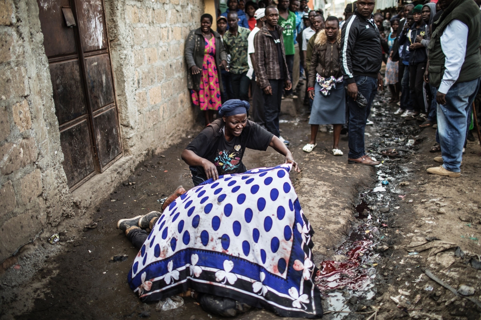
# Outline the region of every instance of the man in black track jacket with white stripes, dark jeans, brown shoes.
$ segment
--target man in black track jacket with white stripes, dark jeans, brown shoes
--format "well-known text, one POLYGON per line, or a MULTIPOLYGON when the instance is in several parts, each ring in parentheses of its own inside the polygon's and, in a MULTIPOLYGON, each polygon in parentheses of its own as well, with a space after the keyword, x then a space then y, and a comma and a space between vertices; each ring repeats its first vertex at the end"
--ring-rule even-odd
MULTIPOLYGON (((382 63, 380 32, 374 23, 374 0, 358 0, 354 15, 342 25, 340 64, 347 86, 349 108, 348 163, 376 166, 379 162, 365 154, 364 129, 377 90, 382 90, 379 73, 382 63), (357 103, 358 93, 367 106, 357 103)), ((361 100, 360 100, 361 101, 361 100)))

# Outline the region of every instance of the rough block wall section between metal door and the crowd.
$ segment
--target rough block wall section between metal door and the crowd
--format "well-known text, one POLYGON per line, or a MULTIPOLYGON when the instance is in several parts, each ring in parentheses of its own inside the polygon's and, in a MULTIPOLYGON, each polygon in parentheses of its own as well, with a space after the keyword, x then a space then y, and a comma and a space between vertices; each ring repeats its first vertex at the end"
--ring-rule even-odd
POLYGON ((153 153, 189 129, 184 41, 203 1, 105 0, 124 152, 153 153))

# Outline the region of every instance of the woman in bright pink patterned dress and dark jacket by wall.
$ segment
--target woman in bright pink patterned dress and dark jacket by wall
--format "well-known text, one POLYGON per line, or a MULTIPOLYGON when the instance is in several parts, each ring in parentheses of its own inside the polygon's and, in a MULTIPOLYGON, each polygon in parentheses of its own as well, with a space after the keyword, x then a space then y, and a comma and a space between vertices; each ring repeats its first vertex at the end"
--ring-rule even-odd
POLYGON ((211 29, 212 16, 201 17, 201 27, 190 31, 185 45, 188 88, 192 103, 204 111, 205 125, 213 120, 214 110, 222 106, 220 93, 224 92, 220 66, 227 70, 227 54, 220 35, 211 29))

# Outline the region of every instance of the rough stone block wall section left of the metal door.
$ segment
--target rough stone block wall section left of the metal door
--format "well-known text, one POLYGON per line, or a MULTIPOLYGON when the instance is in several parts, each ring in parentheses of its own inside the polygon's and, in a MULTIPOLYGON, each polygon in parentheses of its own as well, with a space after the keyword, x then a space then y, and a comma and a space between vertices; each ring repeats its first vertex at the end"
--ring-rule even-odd
POLYGON ((35 0, 0 0, 0 261, 73 214, 35 0))

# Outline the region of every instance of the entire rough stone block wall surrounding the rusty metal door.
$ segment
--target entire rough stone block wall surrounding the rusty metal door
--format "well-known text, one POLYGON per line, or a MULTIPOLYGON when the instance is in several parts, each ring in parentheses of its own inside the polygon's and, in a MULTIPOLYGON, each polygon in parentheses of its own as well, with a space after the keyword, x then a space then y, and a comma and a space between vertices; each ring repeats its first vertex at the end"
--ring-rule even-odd
POLYGON ((104 0, 124 157, 72 193, 36 0, 0 0, 0 262, 85 213, 194 122, 184 39, 203 1, 104 0))

